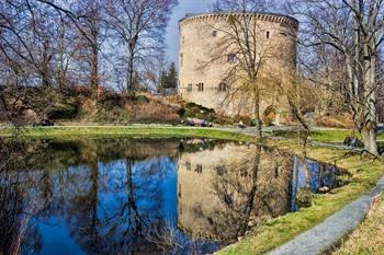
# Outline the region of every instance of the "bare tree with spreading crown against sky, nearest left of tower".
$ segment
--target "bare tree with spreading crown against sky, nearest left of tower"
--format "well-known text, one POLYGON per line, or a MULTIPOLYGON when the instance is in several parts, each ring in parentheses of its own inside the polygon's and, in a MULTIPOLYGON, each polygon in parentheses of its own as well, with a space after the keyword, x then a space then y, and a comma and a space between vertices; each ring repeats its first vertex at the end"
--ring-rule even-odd
POLYGON ((109 23, 126 46, 126 91, 139 80, 139 66, 162 51, 163 32, 176 0, 110 0, 109 23))

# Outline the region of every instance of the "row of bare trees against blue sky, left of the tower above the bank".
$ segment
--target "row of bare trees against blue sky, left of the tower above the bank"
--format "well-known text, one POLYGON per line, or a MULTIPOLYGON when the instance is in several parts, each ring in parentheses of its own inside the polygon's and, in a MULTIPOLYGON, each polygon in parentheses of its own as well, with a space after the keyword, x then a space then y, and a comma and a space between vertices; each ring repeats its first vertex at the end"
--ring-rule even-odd
POLYGON ((4 0, 1 86, 84 85, 132 92, 153 84, 177 0, 4 0), (150 69, 148 69, 150 67, 150 69))

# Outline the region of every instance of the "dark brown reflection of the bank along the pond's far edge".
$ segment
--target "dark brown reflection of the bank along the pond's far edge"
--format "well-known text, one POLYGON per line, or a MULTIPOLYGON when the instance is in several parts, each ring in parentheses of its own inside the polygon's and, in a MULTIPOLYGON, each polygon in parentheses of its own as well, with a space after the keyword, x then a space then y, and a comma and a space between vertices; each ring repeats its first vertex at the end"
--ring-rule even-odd
POLYGON ((94 160, 135 158, 145 160, 155 157, 176 157, 179 141, 165 139, 154 142, 151 139, 108 139, 50 141, 44 154, 30 158, 26 166, 38 170, 59 170, 70 165, 90 164, 94 160))

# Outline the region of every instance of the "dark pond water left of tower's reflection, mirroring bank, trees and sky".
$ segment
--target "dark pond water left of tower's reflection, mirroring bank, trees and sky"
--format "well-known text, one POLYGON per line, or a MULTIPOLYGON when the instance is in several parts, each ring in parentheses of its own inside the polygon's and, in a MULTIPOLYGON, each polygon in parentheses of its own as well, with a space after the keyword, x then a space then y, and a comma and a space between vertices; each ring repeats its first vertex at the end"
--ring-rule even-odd
POLYGON ((15 241, 26 230, 21 222, 24 215, 33 218, 25 233, 26 254, 43 248, 38 224, 55 224, 52 217, 64 221, 71 239, 89 254, 158 251, 147 237, 165 224, 161 182, 176 173, 179 143, 151 144, 56 143, 43 155, 26 159, 26 165, 16 162, 9 175, 1 175, 0 254, 20 252, 15 241), (34 211, 26 207, 29 200, 34 211))

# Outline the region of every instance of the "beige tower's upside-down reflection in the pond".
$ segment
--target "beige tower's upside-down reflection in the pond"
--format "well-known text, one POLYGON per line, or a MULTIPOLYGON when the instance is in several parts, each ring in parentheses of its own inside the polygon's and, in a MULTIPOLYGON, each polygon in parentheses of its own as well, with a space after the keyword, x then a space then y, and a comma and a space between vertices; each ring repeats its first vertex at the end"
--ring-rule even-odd
POLYGON ((178 225, 195 237, 233 241, 290 211, 291 158, 260 146, 224 143, 182 153, 178 225))

